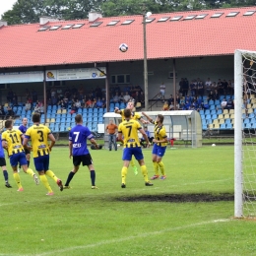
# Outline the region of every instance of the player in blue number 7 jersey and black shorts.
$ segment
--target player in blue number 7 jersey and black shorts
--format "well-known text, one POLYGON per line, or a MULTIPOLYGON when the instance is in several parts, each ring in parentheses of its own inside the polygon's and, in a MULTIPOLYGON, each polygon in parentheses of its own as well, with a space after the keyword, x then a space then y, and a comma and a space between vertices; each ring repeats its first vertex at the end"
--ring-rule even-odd
POLYGON ((88 127, 83 126, 82 115, 78 114, 75 117, 75 120, 77 125, 74 128, 72 128, 69 133, 69 158, 71 159, 73 157, 74 168, 73 170, 70 171, 64 188, 70 188, 69 183, 78 171, 79 165, 82 162, 83 166, 87 165, 90 170, 92 189, 97 189, 95 166, 93 164, 92 157, 87 148, 87 140, 94 144, 96 146, 96 149, 98 149, 98 145, 96 144, 94 135, 91 133, 88 127))

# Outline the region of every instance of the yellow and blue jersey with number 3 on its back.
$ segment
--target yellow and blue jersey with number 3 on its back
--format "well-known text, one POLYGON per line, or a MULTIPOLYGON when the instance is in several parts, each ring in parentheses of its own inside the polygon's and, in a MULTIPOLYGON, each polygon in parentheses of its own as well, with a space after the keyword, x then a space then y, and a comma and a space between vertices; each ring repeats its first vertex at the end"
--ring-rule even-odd
POLYGON ((49 155, 48 135, 51 134, 50 129, 42 124, 34 124, 30 127, 25 137, 32 140, 33 158, 49 155))

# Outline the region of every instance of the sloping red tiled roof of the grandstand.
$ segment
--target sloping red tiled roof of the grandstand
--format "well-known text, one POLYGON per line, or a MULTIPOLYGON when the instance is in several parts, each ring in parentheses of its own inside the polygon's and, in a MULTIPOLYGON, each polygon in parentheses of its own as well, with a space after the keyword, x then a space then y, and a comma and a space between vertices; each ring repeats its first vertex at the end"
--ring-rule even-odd
MULTIPOLYGON (((244 16, 256 7, 153 14, 147 24, 148 59, 181 58, 210 55, 230 55, 235 49, 256 50, 254 29, 256 12, 244 16), (238 12, 235 17, 227 14, 238 12), (223 13, 220 18, 212 18, 223 13), (188 16, 207 14, 203 19, 188 16), (179 21, 170 21, 182 16, 179 21), (158 22, 170 17, 166 22, 158 22)), ((38 32, 39 24, 3 26, 0 28, 0 68, 29 67, 95 62, 114 62, 143 59, 142 16, 99 18, 102 22, 92 28, 88 20, 49 22, 46 26, 61 25, 56 31, 38 32), (130 25, 122 25, 134 20, 130 25), (107 26, 119 21, 115 26, 107 26), (62 30, 68 24, 85 24, 80 29, 62 30), (121 43, 129 46, 119 50, 121 43)))

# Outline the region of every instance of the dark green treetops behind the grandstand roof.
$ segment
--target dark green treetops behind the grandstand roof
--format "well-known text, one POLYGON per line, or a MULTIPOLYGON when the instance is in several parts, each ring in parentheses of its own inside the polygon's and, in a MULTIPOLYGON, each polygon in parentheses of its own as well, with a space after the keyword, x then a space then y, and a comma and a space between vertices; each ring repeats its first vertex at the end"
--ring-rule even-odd
POLYGON ((2 15, 9 25, 38 23, 39 17, 63 20, 88 19, 91 11, 103 17, 138 15, 145 11, 171 13, 230 7, 255 6, 256 0, 17 0, 2 15))

